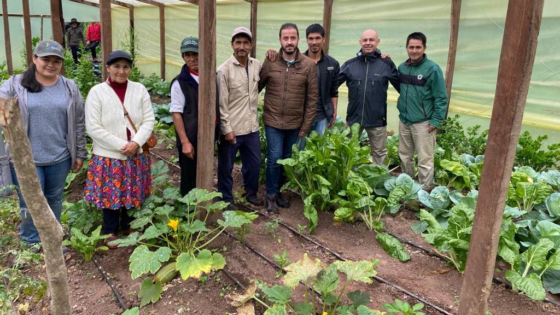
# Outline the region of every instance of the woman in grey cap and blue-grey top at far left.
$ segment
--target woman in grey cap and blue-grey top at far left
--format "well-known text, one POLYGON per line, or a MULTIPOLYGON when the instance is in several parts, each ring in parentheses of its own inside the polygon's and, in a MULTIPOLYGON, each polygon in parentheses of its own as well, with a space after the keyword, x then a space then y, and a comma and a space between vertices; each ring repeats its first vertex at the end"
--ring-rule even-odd
MULTIPOLYGON (((60 74, 63 63, 62 45, 41 41, 35 47, 29 68, 0 87, 0 98, 19 100, 41 188, 59 222, 66 177, 70 170, 78 172, 87 159, 84 101, 74 81, 60 74)), ((12 163, 10 171, 17 186, 12 163)), ((28 244, 38 244, 39 232, 19 190, 18 195, 20 237, 28 244)))

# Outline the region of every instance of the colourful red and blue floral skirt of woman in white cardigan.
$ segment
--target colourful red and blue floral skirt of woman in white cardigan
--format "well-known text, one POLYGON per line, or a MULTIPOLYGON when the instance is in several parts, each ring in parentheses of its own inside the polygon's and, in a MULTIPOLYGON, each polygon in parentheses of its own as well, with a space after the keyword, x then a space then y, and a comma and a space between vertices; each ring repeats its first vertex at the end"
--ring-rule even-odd
POLYGON ((98 209, 138 208, 150 196, 150 157, 127 160, 93 155, 89 161, 84 198, 98 209))

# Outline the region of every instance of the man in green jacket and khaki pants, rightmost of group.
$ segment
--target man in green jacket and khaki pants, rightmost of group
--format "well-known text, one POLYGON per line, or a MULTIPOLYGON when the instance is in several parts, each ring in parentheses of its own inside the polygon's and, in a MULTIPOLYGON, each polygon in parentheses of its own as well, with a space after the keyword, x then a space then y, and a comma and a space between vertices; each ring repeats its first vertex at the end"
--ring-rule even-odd
POLYGON ((399 66, 399 158, 403 172, 414 176, 414 150, 418 153, 418 182, 433 188, 436 129, 445 120, 447 92, 441 68, 428 59, 426 36, 408 35, 409 59, 399 66))

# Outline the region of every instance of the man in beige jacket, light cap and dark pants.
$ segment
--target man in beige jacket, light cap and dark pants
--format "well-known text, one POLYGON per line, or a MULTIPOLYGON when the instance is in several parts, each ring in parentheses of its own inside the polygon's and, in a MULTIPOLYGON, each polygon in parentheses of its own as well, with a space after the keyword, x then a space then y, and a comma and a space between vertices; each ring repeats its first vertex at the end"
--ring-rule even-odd
MULTIPOLYGON (((223 201, 233 202, 231 172, 237 151, 240 151, 244 197, 249 203, 262 206, 257 197, 261 167, 257 114, 261 63, 249 56, 253 35, 246 27, 233 30, 231 47, 233 56, 218 68, 217 73, 222 130, 218 145, 218 191, 222 193, 223 201)), ((235 210, 231 204, 229 207, 235 210)))

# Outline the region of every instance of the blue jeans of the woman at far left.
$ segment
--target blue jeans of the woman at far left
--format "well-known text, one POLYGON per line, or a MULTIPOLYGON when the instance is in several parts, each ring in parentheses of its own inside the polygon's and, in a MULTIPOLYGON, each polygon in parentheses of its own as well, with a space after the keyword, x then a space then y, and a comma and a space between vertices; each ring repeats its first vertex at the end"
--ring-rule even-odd
MULTIPOLYGON (((60 163, 49 165, 49 166, 37 166, 37 175, 39 176, 39 182, 41 182, 41 189, 49 207, 54 213, 54 216, 60 222, 60 213, 62 212, 62 200, 64 198, 64 184, 66 182, 66 177, 70 172, 72 167, 72 161, 70 159, 62 161, 60 163)), ((12 180, 14 185, 19 187, 19 183, 16 176, 16 171, 13 165, 10 165, 10 172, 12 173, 12 180)), ((35 244, 39 243, 39 232, 33 224, 33 219, 31 218, 31 213, 27 209, 27 205, 23 200, 23 196, 18 189, 19 197, 19 207, 21 213, 21 224, 19 226, 19 236, 26 243, 35 244)))

